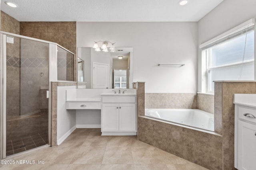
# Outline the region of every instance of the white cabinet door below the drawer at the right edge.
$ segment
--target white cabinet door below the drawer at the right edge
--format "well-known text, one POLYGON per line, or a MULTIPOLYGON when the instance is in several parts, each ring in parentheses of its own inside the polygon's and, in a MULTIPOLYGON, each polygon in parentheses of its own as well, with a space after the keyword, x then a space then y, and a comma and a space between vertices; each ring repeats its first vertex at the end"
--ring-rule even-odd
POLYGON ((256 125, 238 121, 238 169, 255 170, 256 125))

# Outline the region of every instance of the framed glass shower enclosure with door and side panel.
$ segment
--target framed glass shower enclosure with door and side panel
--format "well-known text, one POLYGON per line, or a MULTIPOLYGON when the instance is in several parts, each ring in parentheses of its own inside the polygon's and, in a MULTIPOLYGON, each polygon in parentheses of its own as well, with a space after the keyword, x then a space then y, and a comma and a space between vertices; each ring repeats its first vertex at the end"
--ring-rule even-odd
POLYGON ((50 82, 74 81, 74 54, 56 43, 2 32, 0 63, 1 158, 50 145, 50 82))

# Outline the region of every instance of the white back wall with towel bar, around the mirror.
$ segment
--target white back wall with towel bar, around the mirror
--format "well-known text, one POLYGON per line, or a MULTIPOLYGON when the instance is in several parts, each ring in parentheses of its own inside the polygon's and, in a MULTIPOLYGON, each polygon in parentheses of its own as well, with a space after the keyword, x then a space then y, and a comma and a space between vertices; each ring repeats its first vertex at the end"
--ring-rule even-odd
POLYGON ((131 81, 145 81, 146 93, 197 91, 197 22, 77 22, 76 29, 77 47, 92 47, 94 41, 133 47, 131 81))

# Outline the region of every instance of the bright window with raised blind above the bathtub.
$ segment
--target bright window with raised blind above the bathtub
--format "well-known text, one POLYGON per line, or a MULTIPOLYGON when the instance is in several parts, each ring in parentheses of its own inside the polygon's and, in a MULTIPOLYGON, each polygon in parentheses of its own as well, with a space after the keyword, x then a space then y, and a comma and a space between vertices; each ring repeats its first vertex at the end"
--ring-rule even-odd
POLYGON ((254 25, 202 47, 206 92, 217 80, 254 80, 254 25))

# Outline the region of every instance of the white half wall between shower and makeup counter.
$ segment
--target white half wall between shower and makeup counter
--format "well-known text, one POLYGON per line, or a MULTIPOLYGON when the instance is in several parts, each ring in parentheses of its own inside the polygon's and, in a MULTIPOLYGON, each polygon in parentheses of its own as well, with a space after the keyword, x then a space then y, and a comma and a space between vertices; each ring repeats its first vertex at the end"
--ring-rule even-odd
POLYGON ((76 110, 66 110, 66 90, 76 86, 57 87, 57 145, 76 129, 76 110))

